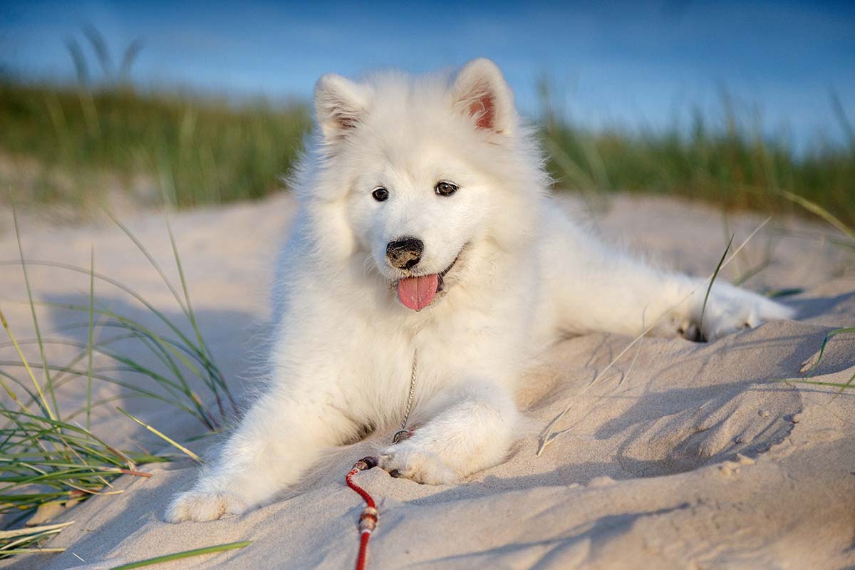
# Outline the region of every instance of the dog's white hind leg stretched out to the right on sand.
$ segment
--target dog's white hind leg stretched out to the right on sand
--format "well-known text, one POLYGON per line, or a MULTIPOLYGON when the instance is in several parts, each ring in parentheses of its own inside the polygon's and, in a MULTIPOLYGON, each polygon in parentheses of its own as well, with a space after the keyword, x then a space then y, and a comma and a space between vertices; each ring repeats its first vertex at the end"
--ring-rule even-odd
POLYGON ((704 309, 705 279, 646 265, 569 224, 563 230, 546 245, 549 262, 543 269, 547 305, 559 329, 636 335, 659 322, 657 332, 670 327, 712 340, 764 320, 793 317, 792 309, 721 279, 704 309))

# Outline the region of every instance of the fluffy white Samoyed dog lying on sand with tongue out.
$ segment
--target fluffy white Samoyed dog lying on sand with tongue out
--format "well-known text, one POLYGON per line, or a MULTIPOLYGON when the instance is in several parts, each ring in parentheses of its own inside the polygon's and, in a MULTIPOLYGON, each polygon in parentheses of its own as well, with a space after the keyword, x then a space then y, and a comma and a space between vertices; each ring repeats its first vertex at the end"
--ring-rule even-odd
POLYGON ((591 331, 714 340, 791 309, 607 249, 547 197, 533 132, 498 67, 324 75, 298 220, 275 285, 271 378, 172 522, 238 514, 366 432, 409 438, 380 467, 450 484, 522 437, 514 397, 550 344, 591 331), (411 412, 411 414, 410 414, 411 412))

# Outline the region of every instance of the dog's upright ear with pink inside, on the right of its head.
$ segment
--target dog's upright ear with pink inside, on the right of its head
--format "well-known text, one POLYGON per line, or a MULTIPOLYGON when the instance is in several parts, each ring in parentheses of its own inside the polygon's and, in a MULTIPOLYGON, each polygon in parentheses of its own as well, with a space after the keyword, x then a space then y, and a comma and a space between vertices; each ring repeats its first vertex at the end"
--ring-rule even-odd
POLYGON ((455 108, 469 115, 477 128, 504 134, 513 129, 514 94, 498 66, 485 57, 463 66, 451 95, 455 108))

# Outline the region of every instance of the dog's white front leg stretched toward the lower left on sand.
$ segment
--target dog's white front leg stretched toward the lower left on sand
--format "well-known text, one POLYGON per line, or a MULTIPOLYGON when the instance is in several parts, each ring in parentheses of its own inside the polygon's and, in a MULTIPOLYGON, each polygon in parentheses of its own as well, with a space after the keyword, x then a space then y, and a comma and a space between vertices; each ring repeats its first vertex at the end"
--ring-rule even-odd
POLYGON ((271 501, 293 485, 323 448, 339 444, 352 430, 331 408, 297 403, 274 393, 262 397, 228 439, 213 466, 191 491, 179 493, 166 520, 215 520, 271 501))

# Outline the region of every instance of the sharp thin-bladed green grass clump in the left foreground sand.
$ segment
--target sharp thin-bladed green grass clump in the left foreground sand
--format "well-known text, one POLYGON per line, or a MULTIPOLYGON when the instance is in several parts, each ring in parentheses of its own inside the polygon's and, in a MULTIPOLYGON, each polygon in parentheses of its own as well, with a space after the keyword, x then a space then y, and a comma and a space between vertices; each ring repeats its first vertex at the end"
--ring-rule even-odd
MULTIPOLYGON (((9 350, 15 355, 14 359, 0 360, 0 387, 4 395, 0 398, 0 516, 3 516, 0 558, 56 551, 42 548, 41 543, 62 531, 64 526, 21 527, 38 509, 55 504, 68 507, 88 497, 120 493, 121 490, 112 485, 114 479, 121 475, 148 478, 150 473, 140 471, 140 465, 172 459, 166 453, 119 450, 109 443, 109 438, 97 434, 92 428, 93 409, 110 405, 113 408, 110 413, 124 414, 181 454, 198 462, 202 461, 200 457, 186 445, 115 407, 115 402, 150 398, 196 418, 207 432, 221 431, 237 414, 226 381, 199 330, 181 268, 178 245, 168 223, 166 231, 172 244, 180 286, 175 286, 168 279, 144 244, 115 220, 150 261, 164 286, 172 291, 184 322, 168 318, 161 309, 156 309, 127 285, 98 273, 94 252, 90 267, 27 259, 17 215, 13 214, 13 219, 20 256, 16 260, 3 261, 2 266, 16 266, 25 276, 27 297, 20 303, 28 305, 30 318, 27 326, 34 330, 35 336, 18 338, 0 307, 0 324, 9 338, 8 343, 0 344, 0 350, 9 350), (38 300, 27 277, 32 267, 85 274, 89 284, 87 303, 46 303, 38 300), (104 309, 97 296, 97 283, 106 283, 139 303, 159 321, 163 330, 156 330, 127 314, 104 309), (43 306, 71 309, 85 316, 82 322, 64 326, 62 330, 84 329, 86 342, 50 338, 44 334, 38 326, 39 309, 43 306), (100 338, 104 331, 108 334, 100 338), (117 348, 127 342, 134 343, 135 350, 117 348), (59 346, 71 346, 76 350, 76 356, 70 361, 56 361, 51 350, 59 346), (147 358, 139 356, 140 348, 144 349, 143 354, 147 353, 147 358), (38 356, 32 358, 27 356, 28 352, 38 356), (97 367, 96 361, 106 364, 97 367), (127 374, 132 375, 133 380, 125 378, 127 374), (114 397, 94 401, 92 385, 97 382, 117 385, 121 391, 114 397), (199 391, 200 387, 202 391, 199 391), (85 393, 85 403, 77 409, 63 410, 57 393, 68 390, 85 393)), ((9 303, 9 299, 3 302, 9 303)))

